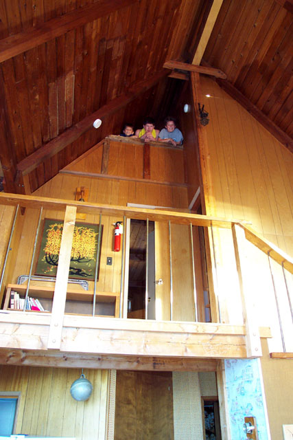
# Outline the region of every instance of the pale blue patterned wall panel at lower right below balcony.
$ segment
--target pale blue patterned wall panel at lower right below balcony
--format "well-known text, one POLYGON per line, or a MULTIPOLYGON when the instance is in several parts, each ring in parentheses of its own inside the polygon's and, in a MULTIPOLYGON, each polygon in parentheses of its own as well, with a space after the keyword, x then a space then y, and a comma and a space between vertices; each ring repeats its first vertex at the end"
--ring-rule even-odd
POLYGON ((270 440, 257 359, 225 360, 231 438, 246 440, 244 417, 256 417, 259 440, 270 440))

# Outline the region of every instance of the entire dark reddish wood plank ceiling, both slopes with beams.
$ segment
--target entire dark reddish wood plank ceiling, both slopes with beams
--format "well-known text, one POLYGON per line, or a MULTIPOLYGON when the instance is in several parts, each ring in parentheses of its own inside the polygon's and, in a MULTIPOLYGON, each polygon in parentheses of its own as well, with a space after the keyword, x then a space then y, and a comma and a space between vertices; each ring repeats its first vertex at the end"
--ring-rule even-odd
MULTIPOLYGON (((5 190, 25 173, 36 190, 126 120, 161 122, 184 83, 163 65, 192 63, 212 3, 0 0, 5 190)), ((202 62, 292 136, 292 0, 224 0, 202 62)))

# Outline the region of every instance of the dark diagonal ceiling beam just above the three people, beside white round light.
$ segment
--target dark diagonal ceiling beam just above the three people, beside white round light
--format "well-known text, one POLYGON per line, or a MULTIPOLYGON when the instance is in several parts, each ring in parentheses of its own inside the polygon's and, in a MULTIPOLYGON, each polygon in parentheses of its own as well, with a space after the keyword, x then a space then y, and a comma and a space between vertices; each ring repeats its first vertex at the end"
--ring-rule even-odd
POLYGON ((129 102, 137 98, 137 96, 143 94, 145 91, 156 85, 156 83, 159 83, 159 80, 164 76, 167 76, 167 74, 167 70, 161 69, 158 73, 150 76, 150 78, 134 83, 134 85, 132 85, 126 93, 119 96, 119 98, 111 100, 108 104, 105 104, 99 110, 95 111, 95 113, 86 116, 86 118, 71 126, 67 131, 38 148, 38 150, 34 151, 30 156, 25 157, 25 159, 17 165, 17 170, 23 175, 27 175, 27 173, 30 173, 42 162, 56 155, 67 145, 77 140, 83 133, 89 129, 94 130, 93 122, 96 119, 103 120, 119 109, 125 107, 129 102))

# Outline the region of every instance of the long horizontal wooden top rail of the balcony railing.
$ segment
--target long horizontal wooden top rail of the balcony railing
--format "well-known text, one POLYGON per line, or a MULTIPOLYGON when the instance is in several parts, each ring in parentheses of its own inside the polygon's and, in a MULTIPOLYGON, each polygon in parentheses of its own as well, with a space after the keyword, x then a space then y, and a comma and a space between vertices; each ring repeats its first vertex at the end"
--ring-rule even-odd
POLYGON ((73 201, 65 199, 52 199, 50 197, 33 197, 30 195, 16 195, 0 192, 0 204, 16 206, 19 204, 23 208, 44 209, 65 211, 67 206, 76 206, 78 212, 84 214, 99 214, 124 217, 128 219, 150 219, 152 221, 171 221, 173 223, 198 226, 218 226, 219 228, 231 229, 232 223, 250 224, 250 222, 220 219, 201 214, 189 214, 188 212, 174 212, 169 210, 153 210, 134 208, 128 206, 102 205, 100 203, 90 203, 88 201, 73 201))

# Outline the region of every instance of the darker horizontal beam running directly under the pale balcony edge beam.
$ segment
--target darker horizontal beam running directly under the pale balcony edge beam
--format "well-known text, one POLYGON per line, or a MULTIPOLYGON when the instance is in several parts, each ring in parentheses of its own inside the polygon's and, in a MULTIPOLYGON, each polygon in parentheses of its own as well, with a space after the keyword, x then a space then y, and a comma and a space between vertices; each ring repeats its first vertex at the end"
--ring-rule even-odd
POLYGON ((174 359, 160 356, 93 355, 56 350, 0 349, 0 364, 56 368, 141 371, 216 371, 215 359, 174 359))

